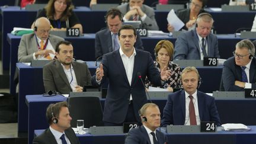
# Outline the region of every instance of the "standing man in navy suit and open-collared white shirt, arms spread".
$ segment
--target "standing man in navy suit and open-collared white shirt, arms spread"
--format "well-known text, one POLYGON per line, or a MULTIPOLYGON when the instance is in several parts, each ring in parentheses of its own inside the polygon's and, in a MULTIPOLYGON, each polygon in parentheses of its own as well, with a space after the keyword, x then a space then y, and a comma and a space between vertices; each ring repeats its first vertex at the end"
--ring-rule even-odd
POLYGON ((162 81, 171 74, 167 68, 159 74, 151 54, 133 47, 136 30, 132 25, 120 28, 119 41, 120 49, 104 55, 100 68, 92 77, 93 85, 103 83, 106 78, 109 80, 103 113, 105 126, 140 121, 137 111, 147 102, 144 86, 146 76, 154 85, 162 85, 162 81))

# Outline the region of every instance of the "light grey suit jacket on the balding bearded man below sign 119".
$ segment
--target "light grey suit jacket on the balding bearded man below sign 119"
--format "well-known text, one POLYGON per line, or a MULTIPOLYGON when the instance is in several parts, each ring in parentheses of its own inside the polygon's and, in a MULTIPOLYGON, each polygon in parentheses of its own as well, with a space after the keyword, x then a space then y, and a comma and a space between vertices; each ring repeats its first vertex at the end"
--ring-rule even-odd
MULTIPOLYGON (((59 41, 64 40, 62 37, 57 37, 52 34, 49 35, 49 41, 55 49, 59 41)), ((20 45, 18 47, 18 62, 31 62, 33 60, 33 53, 38 51, 35 34, 24 34, 21 37, 20 45)))

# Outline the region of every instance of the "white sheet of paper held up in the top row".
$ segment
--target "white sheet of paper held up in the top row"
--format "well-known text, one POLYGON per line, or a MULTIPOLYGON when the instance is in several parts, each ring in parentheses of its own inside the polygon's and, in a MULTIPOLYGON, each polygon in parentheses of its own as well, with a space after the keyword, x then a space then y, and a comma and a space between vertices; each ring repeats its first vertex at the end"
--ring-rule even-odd
POLYGON ((181 21, 180 18, 177 17, 174 9, 171 9, 171 11, 169 11, 167 15, 167 21, 174 27, 174 31, 179 31, 185 25, 183 21, 181 21))

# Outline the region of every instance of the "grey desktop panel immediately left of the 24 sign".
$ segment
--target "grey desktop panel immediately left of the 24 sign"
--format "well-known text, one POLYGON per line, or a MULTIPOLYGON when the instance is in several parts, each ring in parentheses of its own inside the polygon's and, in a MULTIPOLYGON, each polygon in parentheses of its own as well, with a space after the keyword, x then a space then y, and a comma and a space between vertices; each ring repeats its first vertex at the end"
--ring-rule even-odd
POLYGON ((200 126, 167 126, 167 133, 200 133, 200 126))

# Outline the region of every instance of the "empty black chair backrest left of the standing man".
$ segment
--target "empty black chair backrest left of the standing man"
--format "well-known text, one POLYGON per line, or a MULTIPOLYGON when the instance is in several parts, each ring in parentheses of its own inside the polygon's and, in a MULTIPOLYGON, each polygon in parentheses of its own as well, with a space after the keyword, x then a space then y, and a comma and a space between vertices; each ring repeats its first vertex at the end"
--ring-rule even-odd
POLYGON ((69 97, 71 127, 76 127, 76 120, 84 120, 84 127, 103 126, 103 110, 98 97, 69 97))

